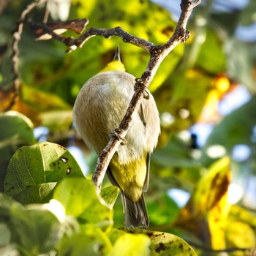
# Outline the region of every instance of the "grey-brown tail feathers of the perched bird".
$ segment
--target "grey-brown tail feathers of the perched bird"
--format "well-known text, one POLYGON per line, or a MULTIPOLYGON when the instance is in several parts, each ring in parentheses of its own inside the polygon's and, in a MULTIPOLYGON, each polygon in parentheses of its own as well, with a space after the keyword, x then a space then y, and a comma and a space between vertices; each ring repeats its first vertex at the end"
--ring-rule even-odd
POLYGON ((121 193, 121 198, 124 206, 124 225, 127 228, 148 227, 148 211, 143 193, 137 202, 130 200, 124 192, 121 193))

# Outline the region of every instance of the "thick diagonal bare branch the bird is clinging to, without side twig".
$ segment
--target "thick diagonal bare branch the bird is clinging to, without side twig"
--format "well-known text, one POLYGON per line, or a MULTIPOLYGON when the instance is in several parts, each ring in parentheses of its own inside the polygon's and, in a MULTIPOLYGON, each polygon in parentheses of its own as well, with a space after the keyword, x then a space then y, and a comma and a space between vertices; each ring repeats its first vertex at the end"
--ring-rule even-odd
MULTIPOLYGON (((94 171, 92 181, 97 187, 97 192, 100 192, 102 181, 105 176, 105 172, 108 168, 110 160, 113 157, 113 154, 120 146, 121 141, 124 139, 129 127, 132 125, 132 120, 138 111, 140 106, 141 99, 143 98, 143 91, 148 87, 151 80, 154 78, 155 73, 161 64, 162 60, 170 53, 173 48, 176 47, 181 42, 185 42, 189 38, 189 31, 186 30, 187 21, 191 15, 192 10, 200 4, 200 0, 181 0, 181 15, 174 31, 173 36, 170 40, 162 46, 153 46, 151 43, 146 43, 146 45, 151 45, 150 53, 151 58, 148 62, 148 67, 146 71, 143 72, 143 75, 135 83, 135 94, 133 95, 127 113, 125 114, 121 124, 118 129, 116 129, 116 136, 112 137, 108 145, 99 153, 97 160, 97 167, 94 171)), ((134 41, 132 41, 134 42, 134 41)), ((138 40, 135 41, 136 43, 138 40)))

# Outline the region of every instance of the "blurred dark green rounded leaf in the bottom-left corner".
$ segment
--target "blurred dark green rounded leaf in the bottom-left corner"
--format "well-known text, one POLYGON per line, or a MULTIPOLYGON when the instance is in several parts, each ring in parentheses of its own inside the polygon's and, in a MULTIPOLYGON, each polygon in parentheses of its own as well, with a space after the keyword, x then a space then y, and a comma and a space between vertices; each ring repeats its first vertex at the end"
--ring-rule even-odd
POLYGON ((0 194, 0 223, 9 227, 12 243, 30 255, 52 250, 62 236, 59 220, 44 205, 23 207, 0 194))

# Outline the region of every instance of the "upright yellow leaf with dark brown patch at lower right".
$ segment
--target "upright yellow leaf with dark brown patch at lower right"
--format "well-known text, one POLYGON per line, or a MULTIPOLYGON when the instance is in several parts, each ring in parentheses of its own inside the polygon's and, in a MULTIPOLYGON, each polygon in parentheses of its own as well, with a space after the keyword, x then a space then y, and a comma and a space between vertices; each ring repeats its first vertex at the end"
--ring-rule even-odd
POLYGON ((194 233, 211 246, 223 232, 223 220, 230 205, 227 188, 230 184, 230 162, 223 158, 215 162, 195 187, 187 205, 182 208, 176 225, 194 233), (217 225, 219 222, 219 226, 217 225), (218 233, 218 230, 220 233, 218 233))

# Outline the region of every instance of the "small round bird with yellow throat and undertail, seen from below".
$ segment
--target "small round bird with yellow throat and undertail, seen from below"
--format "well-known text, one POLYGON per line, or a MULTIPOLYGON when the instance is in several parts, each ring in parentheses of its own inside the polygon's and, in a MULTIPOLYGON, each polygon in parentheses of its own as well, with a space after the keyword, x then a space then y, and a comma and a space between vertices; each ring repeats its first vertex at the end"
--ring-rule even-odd
MULTIPOLYGON (((135 77, 125 72, 116 55, 102 72, 89 79, 75 101, 73 116, 86 144, 99 153, 118 127, 134 94, 135 77)), ((121 189, 126 227, 148 227, 143 192, 148 189, 150 155, 157 146, 160 122, 157 105, 146 89, 132 127, 108 166, 108 178, 121 189)))

